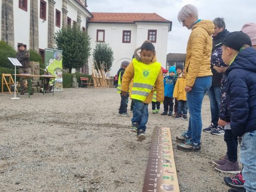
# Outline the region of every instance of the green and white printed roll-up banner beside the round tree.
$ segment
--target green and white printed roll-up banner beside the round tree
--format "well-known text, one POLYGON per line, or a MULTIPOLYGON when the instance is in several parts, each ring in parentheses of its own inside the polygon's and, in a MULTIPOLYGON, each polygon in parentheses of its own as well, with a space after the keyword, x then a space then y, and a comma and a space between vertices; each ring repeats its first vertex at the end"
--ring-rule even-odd
POLYGON ((62 90, 62 51, 45 49, 44 62, 48 72, 56 77, 54 90, 62 90))

